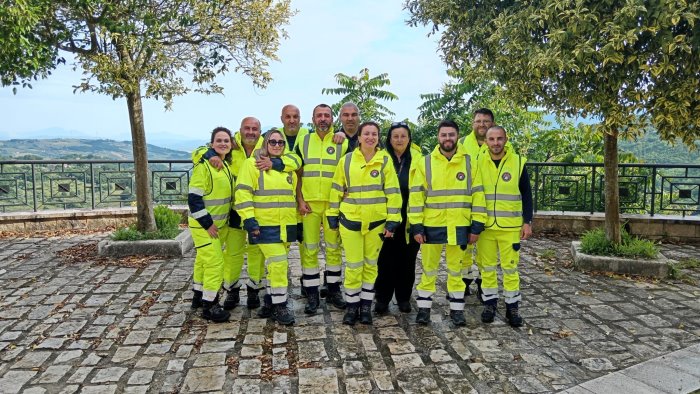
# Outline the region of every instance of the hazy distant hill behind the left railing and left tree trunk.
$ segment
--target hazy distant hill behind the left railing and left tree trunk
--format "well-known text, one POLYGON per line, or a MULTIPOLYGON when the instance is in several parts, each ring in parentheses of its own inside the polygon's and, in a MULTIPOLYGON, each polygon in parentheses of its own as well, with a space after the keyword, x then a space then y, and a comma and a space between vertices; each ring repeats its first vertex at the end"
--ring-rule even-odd
MULTIPOLYGON (((148 145, 151 160, 187 160, 187 152, 148 145)), ((131 141, 88 139, 11 139, 0 141, 4 160, 133 160, 131 141)))

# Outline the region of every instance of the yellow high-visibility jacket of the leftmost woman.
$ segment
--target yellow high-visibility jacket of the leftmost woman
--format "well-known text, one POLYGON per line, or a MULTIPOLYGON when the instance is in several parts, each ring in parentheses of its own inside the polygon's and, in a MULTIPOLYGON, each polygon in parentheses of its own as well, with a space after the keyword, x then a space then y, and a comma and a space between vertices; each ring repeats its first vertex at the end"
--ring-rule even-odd
POLYGON ((226 162, 221 171, 208 162, 197 164, 192 169, 187 205, 190 227, 208 229, 212 224, 222 228, 228 222, 233 192, 233 175, 226 162))

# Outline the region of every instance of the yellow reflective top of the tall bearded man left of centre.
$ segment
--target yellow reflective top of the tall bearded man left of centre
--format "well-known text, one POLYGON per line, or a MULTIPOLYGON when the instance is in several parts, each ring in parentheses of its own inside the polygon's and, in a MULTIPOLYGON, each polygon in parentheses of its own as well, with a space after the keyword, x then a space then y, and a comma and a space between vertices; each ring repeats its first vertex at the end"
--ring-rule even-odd
POLYGON ((331 127, 321 140, 316 132, 309 132, 297 142, 297 154, 304 165, 301 192, 305 201, 328 201, 335 169, 348 150, 348 141, 334 143, 333 133, 331 127))

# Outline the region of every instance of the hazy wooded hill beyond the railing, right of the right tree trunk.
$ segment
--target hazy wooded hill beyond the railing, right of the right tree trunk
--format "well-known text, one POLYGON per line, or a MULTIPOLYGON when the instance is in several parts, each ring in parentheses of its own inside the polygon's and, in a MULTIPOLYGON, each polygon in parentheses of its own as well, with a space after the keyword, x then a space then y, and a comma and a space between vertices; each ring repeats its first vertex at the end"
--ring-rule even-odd
POLYGON ((620 152, 634 154, 642 163, 648 164, 700 164, 700 142, 691 152, 682 142, 675 145, 661 141, 656 131, 647 131, 636 141, 619 142, 620 152))

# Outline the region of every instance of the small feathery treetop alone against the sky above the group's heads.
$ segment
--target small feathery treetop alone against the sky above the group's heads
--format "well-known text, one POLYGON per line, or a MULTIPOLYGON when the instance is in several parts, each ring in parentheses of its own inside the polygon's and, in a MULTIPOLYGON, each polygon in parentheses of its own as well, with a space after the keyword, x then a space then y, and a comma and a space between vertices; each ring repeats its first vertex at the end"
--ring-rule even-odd
POLYGON ((335 113, 340 111, 340 107, 344 103, 351 101, 359 107, 360 118, 363 122, 370 120, 378 123, 390 122, 391 117, 395 115, 389 108, 380 103, 380 101, 398 100, 398 96, 394 93, 382 89, 384 86, 391 85, 388 74, 383 73, 370 77, 369 69, 363 68, 357 76, 343 73, 335 74, 335 80, 340 87, 321 89, 322 94, 343 96, 340 101, 331 106, 335 113))

